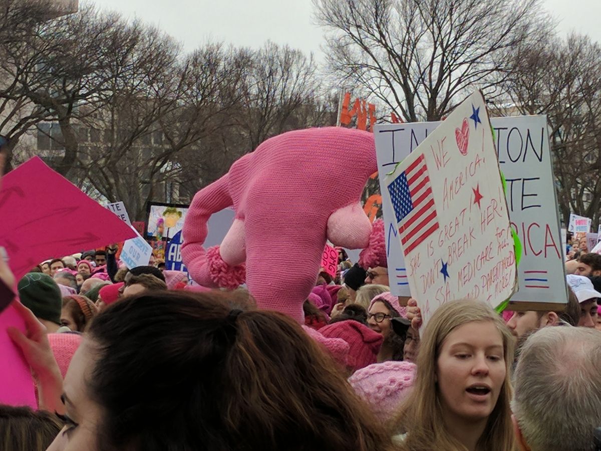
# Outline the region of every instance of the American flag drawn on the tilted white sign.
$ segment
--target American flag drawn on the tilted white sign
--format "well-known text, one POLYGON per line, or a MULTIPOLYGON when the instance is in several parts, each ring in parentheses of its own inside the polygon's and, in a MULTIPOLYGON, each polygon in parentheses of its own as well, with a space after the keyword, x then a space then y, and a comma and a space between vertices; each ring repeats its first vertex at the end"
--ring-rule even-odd
POLYGON ((403 253, 409 254, 438 229, 438 218, 424 155, 388 185, 403 253))

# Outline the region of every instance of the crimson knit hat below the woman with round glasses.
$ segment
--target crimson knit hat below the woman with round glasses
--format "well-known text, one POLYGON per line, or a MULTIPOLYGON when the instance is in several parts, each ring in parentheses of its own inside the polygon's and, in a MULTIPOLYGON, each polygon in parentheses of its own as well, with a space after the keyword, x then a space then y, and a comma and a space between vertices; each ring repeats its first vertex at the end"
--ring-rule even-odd
POLYGON ((376 363, 377 353, 384 337, 360 322, 347 320, 322 327, 319 332, 326 338, 340 338, 349 343, 346 366, 356 371, 376 363))

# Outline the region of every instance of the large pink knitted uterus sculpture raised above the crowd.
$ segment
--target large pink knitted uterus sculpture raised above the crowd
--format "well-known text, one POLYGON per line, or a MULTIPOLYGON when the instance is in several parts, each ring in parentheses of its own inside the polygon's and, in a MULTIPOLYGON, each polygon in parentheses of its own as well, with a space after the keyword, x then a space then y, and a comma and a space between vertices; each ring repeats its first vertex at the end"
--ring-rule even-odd
POLYGON ((371 224, 359 199, 376 171, 368 132, 325 127, 270 138, 194 196, 183 227, 189 274, 207 287, 246 281, 258 307, 302 322, 326 239, 368 245, 371 224), (230 230, 221 246, 205 250, 210 215, 229 206, 230 230))

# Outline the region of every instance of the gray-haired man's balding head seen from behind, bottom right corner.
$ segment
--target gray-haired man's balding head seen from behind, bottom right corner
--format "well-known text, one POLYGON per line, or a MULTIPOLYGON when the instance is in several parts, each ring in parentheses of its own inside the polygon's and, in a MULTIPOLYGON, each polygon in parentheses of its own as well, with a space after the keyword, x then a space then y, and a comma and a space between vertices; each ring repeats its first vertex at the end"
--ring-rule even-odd
POLYGON ((546 327, 522 348, 511 409, 521 450, 597 450, 601 427, 601 333, 546 327))

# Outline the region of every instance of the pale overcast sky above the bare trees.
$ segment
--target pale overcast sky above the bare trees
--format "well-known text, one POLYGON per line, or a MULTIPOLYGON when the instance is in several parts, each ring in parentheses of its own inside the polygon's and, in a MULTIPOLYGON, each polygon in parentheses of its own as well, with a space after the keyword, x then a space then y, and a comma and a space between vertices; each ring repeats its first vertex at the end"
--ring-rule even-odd
MULTIPOLYGON (((80 0, 85 3, 87 0, 80 0)), ((313 25, 311 0, 95 0, 101 8, 154 23, 181 41, 187 51, 208 38, 236 46, 260 47, 270 39, 305 52, 320 52, 322 31, 313 25)), ((543 0, 573 30, 601 42, 600 0, 543 0)))

